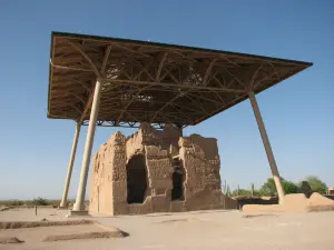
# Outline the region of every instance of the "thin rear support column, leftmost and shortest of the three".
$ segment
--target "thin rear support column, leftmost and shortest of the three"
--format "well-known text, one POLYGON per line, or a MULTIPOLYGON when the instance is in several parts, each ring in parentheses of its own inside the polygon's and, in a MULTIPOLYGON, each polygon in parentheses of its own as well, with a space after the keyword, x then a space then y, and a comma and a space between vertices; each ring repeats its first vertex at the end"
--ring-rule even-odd
POLYGON ((79 140, 79 134, 80 134, 80 128, 81 128, 81 126, 79 123, 77 123, 77 129, 76 129, 76 133, 75 133, 71 156, 70 156, 68 170, 67 170, 66 183, 65 183, 62 199, 61 199, 59 209, 67 209, 67 196, 68 196, 68 189, 69 189, 69 186, 70 186, 70 182, 71 182, 71 176, 72 176, 72 169, 73 169, 73 163, 75 163, 75 159, 76 159, 76 152, 77 152, 77 146, 78 146, 78 140, 79 140))

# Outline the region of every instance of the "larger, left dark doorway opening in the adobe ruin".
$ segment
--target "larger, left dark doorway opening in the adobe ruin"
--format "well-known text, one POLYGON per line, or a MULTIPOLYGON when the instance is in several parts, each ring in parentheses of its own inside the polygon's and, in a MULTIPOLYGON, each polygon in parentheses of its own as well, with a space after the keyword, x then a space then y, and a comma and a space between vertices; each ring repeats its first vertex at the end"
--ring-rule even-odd
POLYGON ((127 201, 143 203, 147 190, 147 171, 144 154, 135 154, 127 163, 127 201))

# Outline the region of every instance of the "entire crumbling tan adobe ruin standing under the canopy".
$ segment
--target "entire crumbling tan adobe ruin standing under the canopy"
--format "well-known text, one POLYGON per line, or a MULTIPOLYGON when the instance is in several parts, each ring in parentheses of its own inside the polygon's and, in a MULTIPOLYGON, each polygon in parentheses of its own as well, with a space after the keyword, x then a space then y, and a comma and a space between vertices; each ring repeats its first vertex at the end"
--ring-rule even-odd
POLYGON ((219 164, 214 138, 147 123, 129 138, 116 132, 94 157, 89 210, 116 216, 234 209, 236 201, 220 190, 219 164))

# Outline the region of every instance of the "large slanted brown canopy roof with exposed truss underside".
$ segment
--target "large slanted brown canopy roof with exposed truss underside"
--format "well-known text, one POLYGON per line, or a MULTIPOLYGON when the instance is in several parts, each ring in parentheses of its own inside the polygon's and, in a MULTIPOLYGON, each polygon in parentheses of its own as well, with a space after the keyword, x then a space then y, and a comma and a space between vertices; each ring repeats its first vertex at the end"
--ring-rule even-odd
POLYGON ((52 32, 48 118, 98 126, 197 124, 312 66, 244 53, 52 32))

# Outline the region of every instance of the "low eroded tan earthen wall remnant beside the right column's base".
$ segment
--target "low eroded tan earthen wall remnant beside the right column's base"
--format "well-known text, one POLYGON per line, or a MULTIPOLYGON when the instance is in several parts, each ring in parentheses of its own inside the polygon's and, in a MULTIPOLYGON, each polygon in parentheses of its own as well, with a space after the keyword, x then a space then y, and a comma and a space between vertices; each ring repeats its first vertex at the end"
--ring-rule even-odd
POLYGON ((286 194, 283 204, 245 204, 245 212, 310 212, 334 210, 334 201, 315 192, 310 199, 304 193, 286 194))

